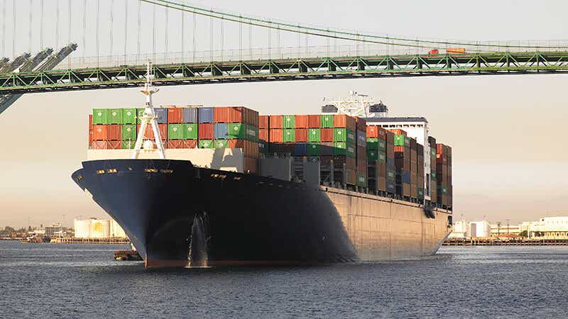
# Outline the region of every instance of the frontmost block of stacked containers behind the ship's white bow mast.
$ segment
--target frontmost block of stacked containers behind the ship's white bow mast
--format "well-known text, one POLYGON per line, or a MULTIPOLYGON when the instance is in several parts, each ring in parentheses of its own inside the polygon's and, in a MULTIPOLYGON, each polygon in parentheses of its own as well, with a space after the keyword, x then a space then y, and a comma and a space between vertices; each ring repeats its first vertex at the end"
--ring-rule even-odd
MULTIPOLYGON (((143 108, 95 108, 89 116, 92 149, 131 149, 143 108), (138 123, 138 125, 136 125, 138 123)), ((155 108, 165 148, 241 148, 245 172, 258 170, 258 112, 242 106, 155 108)), ((154 140, 151 125, 144 139, 154 140)))

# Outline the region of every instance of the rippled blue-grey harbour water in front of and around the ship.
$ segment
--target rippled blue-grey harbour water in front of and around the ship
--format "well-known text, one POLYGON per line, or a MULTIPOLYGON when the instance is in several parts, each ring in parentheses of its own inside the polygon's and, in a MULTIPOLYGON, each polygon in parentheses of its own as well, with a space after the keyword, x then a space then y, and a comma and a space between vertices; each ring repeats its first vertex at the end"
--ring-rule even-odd
POLYGON ((568 247, 442 247, 404 262, 145 270, 125 245, 0 242, 0 317, 568 315, 568 247))

